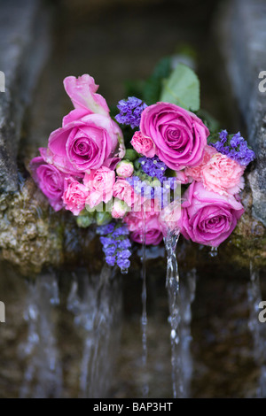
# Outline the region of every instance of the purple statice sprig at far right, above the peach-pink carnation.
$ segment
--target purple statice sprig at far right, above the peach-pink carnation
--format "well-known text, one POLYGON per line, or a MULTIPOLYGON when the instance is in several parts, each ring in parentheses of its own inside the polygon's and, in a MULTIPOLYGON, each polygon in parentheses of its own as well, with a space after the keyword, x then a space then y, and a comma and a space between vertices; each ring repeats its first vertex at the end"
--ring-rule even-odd
POLYGON ((220 140, 210 143, 217 151, 235 160, 241 166, 247 166, 255 158, 254 151, 249 149, 246 140, 240 132, 235 135, 228 135, 226 130, 219 134, 220 140))

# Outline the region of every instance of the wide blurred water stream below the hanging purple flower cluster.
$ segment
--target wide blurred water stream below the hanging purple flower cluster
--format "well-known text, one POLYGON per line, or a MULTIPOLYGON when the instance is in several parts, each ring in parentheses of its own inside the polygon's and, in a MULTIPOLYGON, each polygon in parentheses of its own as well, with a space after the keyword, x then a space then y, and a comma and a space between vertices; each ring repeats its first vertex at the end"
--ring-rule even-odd
POLYGON ((106 397, 108 393, 120 336, 121 293, 116 283, 106 265, 99 276, 89 276, 83 269, 74 274, 67 309, 74 313, 74 325, 83 341, 80 397, 106 397))

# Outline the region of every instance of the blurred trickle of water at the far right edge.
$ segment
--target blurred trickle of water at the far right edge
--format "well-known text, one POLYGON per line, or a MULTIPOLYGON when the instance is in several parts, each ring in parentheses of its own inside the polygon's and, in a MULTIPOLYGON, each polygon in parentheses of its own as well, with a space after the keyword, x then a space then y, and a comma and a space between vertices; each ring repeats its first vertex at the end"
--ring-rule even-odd
POLYGON ((260 273, 250 262, 250 282, 247 286, 249 303, 248 327, 254 341, 254 361, 261 368, 261 376, 257 389, 257 397, 266 398, 266 328, 265 323, 260 322, 259 304, 262 302, 260 273))

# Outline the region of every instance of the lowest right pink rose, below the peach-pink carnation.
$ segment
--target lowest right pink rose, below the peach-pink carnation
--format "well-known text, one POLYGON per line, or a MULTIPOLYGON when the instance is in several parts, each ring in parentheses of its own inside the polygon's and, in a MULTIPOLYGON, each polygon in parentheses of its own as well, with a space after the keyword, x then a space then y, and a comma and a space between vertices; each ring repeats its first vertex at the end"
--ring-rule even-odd
POLYGON ((185 238, 217 247, 236 227, 244 212, 242 204, 231 195, 219 195, 193 181, 184 193, 180 227, 185 238))

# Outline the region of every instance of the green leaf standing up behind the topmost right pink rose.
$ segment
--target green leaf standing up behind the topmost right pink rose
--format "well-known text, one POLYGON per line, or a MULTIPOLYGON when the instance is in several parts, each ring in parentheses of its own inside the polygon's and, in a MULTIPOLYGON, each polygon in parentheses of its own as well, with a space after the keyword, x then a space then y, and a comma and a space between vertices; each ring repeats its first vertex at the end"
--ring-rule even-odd
POLYGON ((160 101, 197 112, 200 109, 200 81, 196 73, 189 66, 178 64, 164 82, 160 101))

